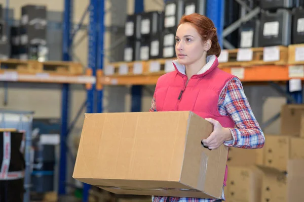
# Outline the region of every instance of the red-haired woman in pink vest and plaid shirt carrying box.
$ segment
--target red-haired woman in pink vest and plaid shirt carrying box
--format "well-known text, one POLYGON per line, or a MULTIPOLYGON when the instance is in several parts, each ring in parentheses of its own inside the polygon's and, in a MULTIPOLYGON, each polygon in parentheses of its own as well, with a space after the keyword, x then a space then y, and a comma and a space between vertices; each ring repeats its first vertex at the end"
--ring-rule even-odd
MULTIPOLYGON (((176 71, 159 78, 150 112, 192 111, 205 118, 214 125, 210 136, 202 140, 209 149, 221 144, 263 147, 265 138, 241 81, 217 67, 221 50, 213 22, 199 14, 183 16, 176 31, 175 51, 176 71)), ((226 177, 227 169, 224 186, 226 177)), ((154 202, 222 200, 224 193, 220 200, 153 196, 154 202)))

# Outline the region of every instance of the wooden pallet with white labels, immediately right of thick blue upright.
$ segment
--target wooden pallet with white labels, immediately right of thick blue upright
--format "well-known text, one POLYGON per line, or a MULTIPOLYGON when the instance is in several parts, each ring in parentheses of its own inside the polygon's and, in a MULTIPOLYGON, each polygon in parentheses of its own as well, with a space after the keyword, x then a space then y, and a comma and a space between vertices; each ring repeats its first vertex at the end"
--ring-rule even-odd
POLYGON ((142 75, 148 70, 146 61, 117 62, 106 65, 104 68, 105 76, 130 76, 142 75))

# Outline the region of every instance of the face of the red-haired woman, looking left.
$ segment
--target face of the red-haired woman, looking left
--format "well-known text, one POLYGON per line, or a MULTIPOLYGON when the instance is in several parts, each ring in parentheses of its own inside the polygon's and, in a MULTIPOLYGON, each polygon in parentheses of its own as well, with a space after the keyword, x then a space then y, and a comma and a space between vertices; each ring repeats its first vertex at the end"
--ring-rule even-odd
POLYGON ((180 64, 190 65, 206 58, 204 52, 207 52, 210 46, 205 45, 200 34, 192 24, 183 23, 179 25, 175 39, 175 52, 180 64))

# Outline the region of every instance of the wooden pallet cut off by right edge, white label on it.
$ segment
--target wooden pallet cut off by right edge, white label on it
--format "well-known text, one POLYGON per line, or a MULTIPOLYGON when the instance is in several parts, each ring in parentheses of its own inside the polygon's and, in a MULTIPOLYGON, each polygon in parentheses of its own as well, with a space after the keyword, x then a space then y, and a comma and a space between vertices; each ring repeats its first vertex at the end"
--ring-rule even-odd
POLYGON ((288 46, 288 64, 304 65, 304 43, 288 46))

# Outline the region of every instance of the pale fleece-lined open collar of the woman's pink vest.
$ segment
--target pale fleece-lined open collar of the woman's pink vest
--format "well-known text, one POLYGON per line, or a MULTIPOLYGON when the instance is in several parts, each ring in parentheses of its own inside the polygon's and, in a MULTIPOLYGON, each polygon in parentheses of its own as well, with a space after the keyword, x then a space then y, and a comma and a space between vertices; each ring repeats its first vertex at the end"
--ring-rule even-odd
MULTIPOLYGON (((202 69, 197 74, 195 74, 194 76, 196 76, 196 77, 204 76, 204 75, 208 74, 209 72, 211 72, 215 67, 218 66, 218 60, 217 60, 217 57, 215 55, 207 56, 206 61, 207 61, 206 65, 204 65, 204 67, 202 67, 202 69)), ((178 73, 180 73, 182 75, 186 75, 185 66, 181 65, 178 62, 178 60, 174 60, 173 65, 175 67, 175 70, 178 73)))

